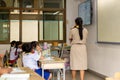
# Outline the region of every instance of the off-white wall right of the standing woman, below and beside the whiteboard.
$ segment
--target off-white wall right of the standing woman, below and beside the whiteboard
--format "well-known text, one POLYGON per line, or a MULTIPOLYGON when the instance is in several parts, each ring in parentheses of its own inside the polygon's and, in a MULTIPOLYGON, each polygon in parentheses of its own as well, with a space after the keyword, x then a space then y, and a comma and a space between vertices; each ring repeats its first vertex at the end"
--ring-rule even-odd
POLYGON ((96 1, 93 1, 93 24, 88 27, 89 68, 106 76, 120 71, 120 44, 97 43, 96 1))

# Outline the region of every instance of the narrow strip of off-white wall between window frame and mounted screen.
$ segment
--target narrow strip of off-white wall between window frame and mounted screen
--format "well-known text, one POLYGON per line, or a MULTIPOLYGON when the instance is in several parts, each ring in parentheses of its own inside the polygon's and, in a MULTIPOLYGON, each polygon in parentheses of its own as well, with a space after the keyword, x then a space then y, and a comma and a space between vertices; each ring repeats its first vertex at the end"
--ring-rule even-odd
MULTIPOLYGON (((78 16, 78 4, 80 0, 66 0, 66 23, 67 23, 67 36, 69 35, 70 28, 74 26, 74 20, 78 16)), ((67 42, 68 38, 67 38, 67 42)))

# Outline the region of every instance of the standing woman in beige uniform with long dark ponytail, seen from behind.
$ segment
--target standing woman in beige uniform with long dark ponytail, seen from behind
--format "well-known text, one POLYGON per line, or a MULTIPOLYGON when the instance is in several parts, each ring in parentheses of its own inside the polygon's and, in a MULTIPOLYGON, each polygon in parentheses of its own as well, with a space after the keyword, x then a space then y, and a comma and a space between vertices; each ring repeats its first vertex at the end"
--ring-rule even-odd
POLYGON ((85 70, 87 70, 86 39, 88 31, 82 26, 82 18, 76 18, 75 24, 69 34, 71 43, 70 67, 72 70, 72 80, 76 80, 77 70, 80 71, 80 80, 84 80, 85 70))

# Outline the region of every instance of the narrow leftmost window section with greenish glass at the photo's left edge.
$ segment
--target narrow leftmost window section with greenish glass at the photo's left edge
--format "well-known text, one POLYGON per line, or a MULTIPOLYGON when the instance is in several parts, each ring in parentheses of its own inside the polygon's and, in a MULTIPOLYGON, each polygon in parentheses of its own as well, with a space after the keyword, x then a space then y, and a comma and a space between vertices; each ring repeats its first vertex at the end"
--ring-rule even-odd
POLYGON ((9 41, 9 10, 2 9, 0 10, 0 41, 8 42, 9 41))

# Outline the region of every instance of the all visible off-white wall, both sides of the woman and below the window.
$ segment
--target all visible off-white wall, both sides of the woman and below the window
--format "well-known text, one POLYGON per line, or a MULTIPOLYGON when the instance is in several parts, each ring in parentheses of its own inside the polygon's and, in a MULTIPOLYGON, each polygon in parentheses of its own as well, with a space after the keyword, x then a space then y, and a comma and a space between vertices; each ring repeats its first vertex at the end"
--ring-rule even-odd
MULTIPOLYGON (((78 16, 78 4, 80 0, 67 1, 67 43, 69 30, 74 26, 74 19, 78 16), (74 7, 73 7, 74 6, 74 7)), ((113 76, 120 71, 120 44, 97 43, 97 17, 96 0, 93 2, 93 23, 86 28, 89 31, 88 48, 88 68, 105 76, 113 76)), ((9 45, 0 45, 0 53, 9 49, 9 45)))

